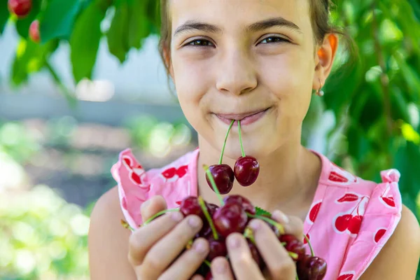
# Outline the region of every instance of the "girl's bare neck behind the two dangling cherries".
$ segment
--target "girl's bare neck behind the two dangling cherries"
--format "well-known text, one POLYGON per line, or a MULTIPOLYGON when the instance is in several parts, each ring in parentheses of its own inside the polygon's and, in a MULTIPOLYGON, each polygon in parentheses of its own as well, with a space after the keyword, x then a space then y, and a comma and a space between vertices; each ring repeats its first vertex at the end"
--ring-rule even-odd
MULTIPOLYGON (((204 200, 218 203, 216 193, 205 179, 202 165, 214 165, 220 152, 199 137, 198 188, 204 200)), ((228 195, 243 195, 254 205, 267 211, 280 209, 288 215, 304 218, 318 186, 321 174, 321 159, 298 144, 287 143, 266 157, 257 158, 260 174, 253 185, 246 188, 235 181, 228 195)), ((223 163, 235 166, 236 159, 223 157, 223 163)))

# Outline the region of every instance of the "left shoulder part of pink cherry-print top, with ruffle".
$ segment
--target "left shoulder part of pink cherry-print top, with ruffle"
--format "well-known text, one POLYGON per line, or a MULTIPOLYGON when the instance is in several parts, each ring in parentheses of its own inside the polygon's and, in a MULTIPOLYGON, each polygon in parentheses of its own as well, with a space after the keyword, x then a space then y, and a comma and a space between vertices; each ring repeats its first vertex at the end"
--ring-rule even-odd
POLYGON ((197 155, 191 151, 170 162, 165 167, 144 169, 126 149, 120 153, 118 162, 111 168, 116 180, 121 211, 125 221, 134 229, 141 225, 141 204, 149 198, 160 195, 165 198, 168 208, 178 207, 188 195, 197 195, 197 155))

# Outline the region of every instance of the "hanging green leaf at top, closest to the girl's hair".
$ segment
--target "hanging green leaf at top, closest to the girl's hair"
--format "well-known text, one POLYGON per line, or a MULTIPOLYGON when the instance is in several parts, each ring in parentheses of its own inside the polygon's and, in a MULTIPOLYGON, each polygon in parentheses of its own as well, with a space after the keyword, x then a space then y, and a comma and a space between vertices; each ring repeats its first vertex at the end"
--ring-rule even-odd
POLYGON ((134 0, 129 9, 128 46, 141 48, 142 39, 151 34, 151 24, 147 17, 147 2, 134 0))

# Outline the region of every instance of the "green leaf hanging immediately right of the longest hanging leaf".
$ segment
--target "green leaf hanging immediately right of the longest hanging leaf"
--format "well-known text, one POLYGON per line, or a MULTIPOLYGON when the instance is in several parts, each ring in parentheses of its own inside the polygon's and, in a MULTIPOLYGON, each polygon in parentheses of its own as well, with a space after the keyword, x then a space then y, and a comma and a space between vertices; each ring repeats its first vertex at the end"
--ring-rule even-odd
POLYGON ((129 30, 129 5, 127 1, 121 1, 116 7, 111 27, 109 27, 106 37, 108 38, 109 52, 120 60, 125 61, 128 50, 128 30, 129 30))

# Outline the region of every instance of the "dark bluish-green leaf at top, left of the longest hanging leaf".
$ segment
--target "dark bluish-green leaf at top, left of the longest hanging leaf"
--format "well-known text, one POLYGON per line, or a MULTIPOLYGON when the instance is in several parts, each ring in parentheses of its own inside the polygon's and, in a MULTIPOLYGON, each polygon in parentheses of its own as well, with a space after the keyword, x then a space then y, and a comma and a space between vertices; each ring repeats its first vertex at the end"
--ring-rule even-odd
POLYGON ((85 0, 51 0, 40 22, 41 42, 52 38, 69 38, 74 20, 85 0))

